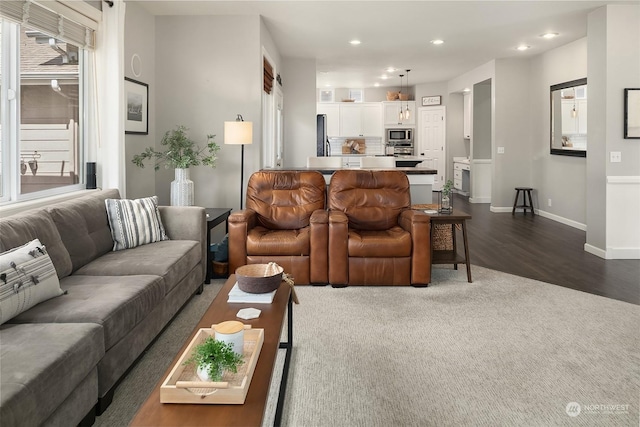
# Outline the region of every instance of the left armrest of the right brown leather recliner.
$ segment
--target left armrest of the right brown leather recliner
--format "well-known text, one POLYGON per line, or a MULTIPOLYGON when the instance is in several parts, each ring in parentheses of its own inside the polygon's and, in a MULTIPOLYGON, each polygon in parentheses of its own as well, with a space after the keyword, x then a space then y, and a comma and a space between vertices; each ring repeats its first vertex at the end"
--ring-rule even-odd
POLYGON ((349 283, 349 219, 344 212, 329 211, 329 283, 349 283))

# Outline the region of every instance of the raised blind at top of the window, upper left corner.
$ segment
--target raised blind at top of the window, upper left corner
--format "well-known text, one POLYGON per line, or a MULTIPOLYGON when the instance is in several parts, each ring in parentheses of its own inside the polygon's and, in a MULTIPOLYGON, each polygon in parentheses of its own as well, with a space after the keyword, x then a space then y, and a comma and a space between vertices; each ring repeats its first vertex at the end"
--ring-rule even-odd
POLYGON ((78 6, 81 11, 60 1, 0 0, 0 16, 58 40, 93 49, 100 11, 90 12, 81 4, 78 6))

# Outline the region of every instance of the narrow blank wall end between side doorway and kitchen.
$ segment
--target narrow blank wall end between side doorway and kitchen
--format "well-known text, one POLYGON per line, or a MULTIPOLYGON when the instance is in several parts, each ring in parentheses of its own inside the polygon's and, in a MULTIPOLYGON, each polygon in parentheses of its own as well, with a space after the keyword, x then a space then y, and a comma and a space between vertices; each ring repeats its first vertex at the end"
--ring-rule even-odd
POLYGON ((286 58, 284 93, 284 167, 305 167, 316 155, 316 61, 286 58))

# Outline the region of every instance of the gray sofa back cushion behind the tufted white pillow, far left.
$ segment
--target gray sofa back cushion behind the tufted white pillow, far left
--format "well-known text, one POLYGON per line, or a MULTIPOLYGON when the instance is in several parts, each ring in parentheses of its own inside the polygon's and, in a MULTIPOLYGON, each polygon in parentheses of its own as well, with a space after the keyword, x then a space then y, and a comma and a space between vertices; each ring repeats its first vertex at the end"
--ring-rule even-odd
POLYGON ((44 210, 31 210, 0 219, 0 251, 5 252, 34 239, 47 248, 58 278, 71 274, 71 258, 62 242, 51 215, 44 210))

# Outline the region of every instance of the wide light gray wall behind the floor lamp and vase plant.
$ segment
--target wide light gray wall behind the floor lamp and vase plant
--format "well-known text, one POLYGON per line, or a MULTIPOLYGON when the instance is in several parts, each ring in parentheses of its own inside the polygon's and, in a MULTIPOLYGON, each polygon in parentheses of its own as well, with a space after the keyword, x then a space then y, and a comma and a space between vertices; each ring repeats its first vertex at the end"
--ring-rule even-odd
MULTIPOLYGON (((245 146, 245 178, 260 168, 262 55, 258 16, 156 17, 156 133, 183 124, 204 143, 216 134, 217 167, 191 168, 195 204, 238 208, 240 151, 224 145, 225 121, 242 114, 254 125, 253 144, 245 146), (233 35, 233 36, 231 36, 233 35)), ((173 170, 156 173, 156 194, 169 202, 173 170)))

